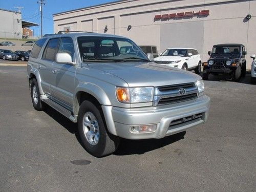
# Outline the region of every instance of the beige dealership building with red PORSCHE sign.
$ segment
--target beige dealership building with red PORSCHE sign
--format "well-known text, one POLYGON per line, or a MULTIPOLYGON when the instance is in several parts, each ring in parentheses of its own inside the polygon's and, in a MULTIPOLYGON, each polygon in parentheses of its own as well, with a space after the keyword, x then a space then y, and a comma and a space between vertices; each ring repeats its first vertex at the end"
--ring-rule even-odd
POLYGON ((137 45, 198 50, 202 61, 213 45, 239 43, 256 53, 256 0, 124 0, 56 13, 54 32, 88 31, 129 37, 137 45))

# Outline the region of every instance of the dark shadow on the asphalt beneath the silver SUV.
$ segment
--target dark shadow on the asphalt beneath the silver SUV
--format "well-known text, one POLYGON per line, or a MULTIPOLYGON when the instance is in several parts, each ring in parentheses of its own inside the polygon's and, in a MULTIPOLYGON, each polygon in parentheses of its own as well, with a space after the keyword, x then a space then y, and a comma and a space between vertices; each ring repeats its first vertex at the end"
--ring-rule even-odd
MULTIPOLYGON (((79 137, 77 123, 73 123, 68 118, 55 111, 50 106, 45 109, 45 113, 48 114, 51 118, 57 121, 60 125, 65 127, 71 134, 75 134, 76 139, 83 147, 82 142, 79 137)), ((164 137, 162 139, 145 139, 145 140, 129 140, 129 139, 121 139, 118 150, 114 153, 114 155, 122 156, 122 155, 132 155, 132 154, 144 154, 149 151, 156 150, 157 148, 161 148, 163 146, 172 144, 176 141, 179 141, 184 138, 186 132, 181 132, 175 135, 171 135, 168 137, 164 137)), ((84 148, 84 147, 83 147, 84 148)))

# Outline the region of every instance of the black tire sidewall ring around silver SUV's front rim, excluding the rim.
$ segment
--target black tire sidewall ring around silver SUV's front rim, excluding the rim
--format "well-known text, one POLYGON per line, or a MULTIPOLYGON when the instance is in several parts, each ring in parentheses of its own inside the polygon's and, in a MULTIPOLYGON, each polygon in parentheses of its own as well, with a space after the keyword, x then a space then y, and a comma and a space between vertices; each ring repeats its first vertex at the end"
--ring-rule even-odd
POLYGON ((101 157, 106 145, 106 136, 108 133, 106 133, 106 126, 102 118, 102 114, 100 110, 91 102, 91 101, 83 101, 80 105, 80 109, 78 112, 78 131, 80 135, 81 142, 86 148, 87 152, 92 154, 96 157, 101 157), (96 117, 99 125, 99 142, 96 145, 92 145, 88 142, 86 136, 83 132, 83 116, 87 112, 93 113, 93 115, 96 117))

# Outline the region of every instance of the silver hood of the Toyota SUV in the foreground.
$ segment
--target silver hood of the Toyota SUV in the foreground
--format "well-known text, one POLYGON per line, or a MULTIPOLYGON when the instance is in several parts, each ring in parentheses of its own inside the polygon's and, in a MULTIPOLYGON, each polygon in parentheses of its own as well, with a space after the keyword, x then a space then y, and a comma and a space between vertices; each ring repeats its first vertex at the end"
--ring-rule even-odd
POLYGON ((173 67, 161 66, 154 62, 88 63, 88 66, 123 79, 130 87, 158 87, 169 84, 195 82, 196 80, 202 79, 195 73, 173 67))

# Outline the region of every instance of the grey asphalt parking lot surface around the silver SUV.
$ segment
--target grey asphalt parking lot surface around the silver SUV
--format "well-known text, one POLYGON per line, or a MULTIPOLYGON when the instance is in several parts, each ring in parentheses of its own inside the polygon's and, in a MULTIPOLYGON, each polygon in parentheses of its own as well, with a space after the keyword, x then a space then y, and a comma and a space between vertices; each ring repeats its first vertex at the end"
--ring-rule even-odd
POLYGON ((254 191, 256 85, 249 76, 204 81, 211 98, 205 124, 160 140, 122 140, 113 155, 95 158, 81 146, 77 124, 51 108, 33 109, 24 65, 0 64, 0 190, 254 191))

